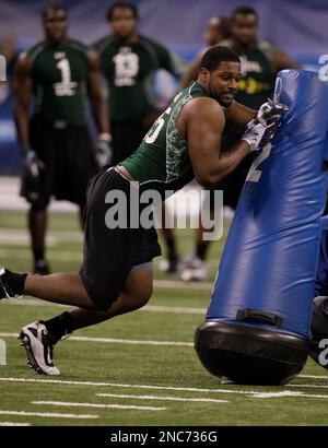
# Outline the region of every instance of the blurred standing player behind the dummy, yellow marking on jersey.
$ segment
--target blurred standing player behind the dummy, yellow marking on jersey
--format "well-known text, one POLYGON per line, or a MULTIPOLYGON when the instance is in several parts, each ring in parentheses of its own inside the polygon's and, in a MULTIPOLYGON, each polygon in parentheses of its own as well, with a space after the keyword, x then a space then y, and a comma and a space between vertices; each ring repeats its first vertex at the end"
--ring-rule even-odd
MULTIPOLYGON (((235 99, 249 108, 257 109, 272 94, 276 75, 283 69, 300 69, 300 66, 285 52, 267 40, 258 39, 258 14, 249 7, 235 9, 231 17, 231 38, 220 45, 234 50, 242 61, 242 78, 235 99)), ((196 64, 196 61, 194 62, 196 64)), ((184 76, 183 87, 195 79, 188 70, 184 76)), ((239 134, 225 130, 222 150, 231 148, 239 134)), ((237 168, 226 176, 214 188, 223 190, 223 203, 235 210, 242 189, 254 157, 246 157, 237 168)), ((211 204, 211 207, 213 207, 211 204)), ((206 262, 210 241, 203 240, 203 229, 199 228, 194 252, 181 262, 180 275, 185 281, 202 281, 208 276, 206 262)))

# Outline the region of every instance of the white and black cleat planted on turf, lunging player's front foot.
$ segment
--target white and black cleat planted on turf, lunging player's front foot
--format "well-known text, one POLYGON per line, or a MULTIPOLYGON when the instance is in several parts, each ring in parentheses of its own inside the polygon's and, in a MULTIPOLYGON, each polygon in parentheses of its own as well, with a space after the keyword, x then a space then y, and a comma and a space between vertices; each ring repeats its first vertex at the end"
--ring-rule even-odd
POLYGON ((54 345, 44 323, 33 322, 22 328, 19 339, 25 349, 27 365, 37 374, 60 375, 60 370, 52 363, 54 345))

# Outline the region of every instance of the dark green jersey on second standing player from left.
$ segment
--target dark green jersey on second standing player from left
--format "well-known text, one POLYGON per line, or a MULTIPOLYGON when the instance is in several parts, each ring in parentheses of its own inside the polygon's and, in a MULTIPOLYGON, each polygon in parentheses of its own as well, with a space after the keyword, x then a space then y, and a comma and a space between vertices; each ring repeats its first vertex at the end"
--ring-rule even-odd
POLYGON ((141 120, 153 107, 154 73, 165 69, 179 76, 185 66, 165 47, 139 36, 124 45, 110 36, 94 44, 109 92, 110 117, 115 121, 141 120))

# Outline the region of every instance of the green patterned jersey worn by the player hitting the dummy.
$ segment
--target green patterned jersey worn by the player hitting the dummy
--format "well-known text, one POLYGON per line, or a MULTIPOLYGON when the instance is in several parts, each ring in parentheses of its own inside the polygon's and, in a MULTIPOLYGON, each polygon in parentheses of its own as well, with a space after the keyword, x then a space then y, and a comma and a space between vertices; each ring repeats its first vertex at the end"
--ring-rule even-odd
POLYGON ((202 96, 208 94, 197 81, 184 89, 150 128, 139 149, 120 164, 141 188, 176 191, 194 178, 187 141, 179 137, 177 121, 185 104, 202 96))

